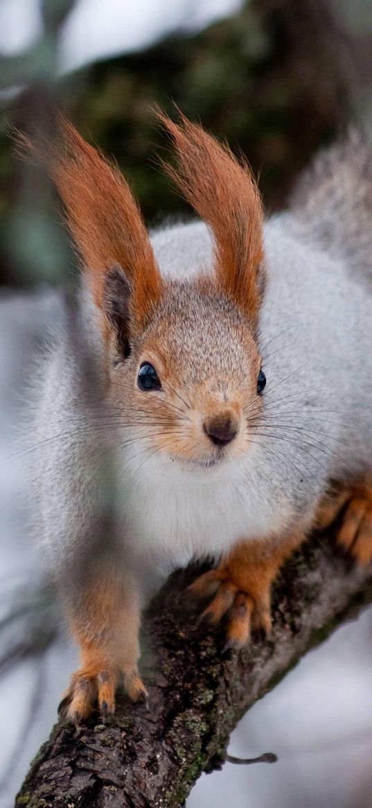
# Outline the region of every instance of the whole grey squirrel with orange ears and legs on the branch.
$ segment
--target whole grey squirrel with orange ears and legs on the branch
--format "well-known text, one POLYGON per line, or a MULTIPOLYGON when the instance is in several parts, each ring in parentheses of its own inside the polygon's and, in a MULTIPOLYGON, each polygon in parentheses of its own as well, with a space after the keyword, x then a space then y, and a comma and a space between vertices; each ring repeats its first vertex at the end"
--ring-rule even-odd
POLYGON ((36 383, 36 532, 81 665, 77 725, 138 670, 150 580, 191 558, 190 591, 226 646, 270 632, 282 563, 336 514, 372 559, 372 170, 350 131, 264 221, 245 159, 158 113, 166 170, 198 216, 145 229, 119 169, 64 116, 43 147, 82 262, 36 383))

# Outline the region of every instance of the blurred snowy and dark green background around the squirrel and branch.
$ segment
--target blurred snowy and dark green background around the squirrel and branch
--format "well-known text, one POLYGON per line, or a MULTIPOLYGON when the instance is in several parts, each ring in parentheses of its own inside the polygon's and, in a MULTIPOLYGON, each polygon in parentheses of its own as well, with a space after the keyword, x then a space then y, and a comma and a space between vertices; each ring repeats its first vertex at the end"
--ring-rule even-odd
MULTIPOLYGON (((27 541, 15 426, 31 347, 58 317, 76 262, 48 179, 12 127, 48 132, 57 104, 119 163, 146 221, 190 216, 157 168, 158 104, 241 149, 268 213, 350 121, 372 131, 372 0, 0 0, 0 806, 56 715, 73 668, 27 541), (11 456, 11 457, 10 457, 11 456), (41 583, 40 583, 41 581, 41 583), (10 706, 11 705, 11 706, 10 706)), ((188 808, 370 808, 372 612, 311 652, 233 734, 278 764, 203 776, 188 808)))

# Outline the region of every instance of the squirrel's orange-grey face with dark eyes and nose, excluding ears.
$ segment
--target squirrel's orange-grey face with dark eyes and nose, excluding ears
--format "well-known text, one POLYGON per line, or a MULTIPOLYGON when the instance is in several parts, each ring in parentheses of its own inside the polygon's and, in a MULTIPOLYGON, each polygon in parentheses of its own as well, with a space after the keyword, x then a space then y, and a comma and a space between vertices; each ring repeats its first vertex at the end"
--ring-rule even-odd
POLYGON ((207 468, 252 451, 248 420, 259 415, 264 386, 244 314, 217 293, 173 283, 115 366, 111 396, 150 454, 207 468))

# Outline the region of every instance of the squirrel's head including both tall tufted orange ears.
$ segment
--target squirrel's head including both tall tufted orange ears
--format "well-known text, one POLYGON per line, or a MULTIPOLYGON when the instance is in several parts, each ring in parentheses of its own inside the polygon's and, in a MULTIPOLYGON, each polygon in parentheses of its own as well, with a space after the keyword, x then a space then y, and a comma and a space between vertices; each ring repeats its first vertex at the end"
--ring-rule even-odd
POLYGON ((226 145, 184 116, 160 118, 178 158, 168 173, 213 239, 211 267, 190 280, 161 276, 119 170, 63 117, 48 169, 97 306, 115 412, 149 451, 207 467, 249 451, 261 407, 261 198, 226 145))

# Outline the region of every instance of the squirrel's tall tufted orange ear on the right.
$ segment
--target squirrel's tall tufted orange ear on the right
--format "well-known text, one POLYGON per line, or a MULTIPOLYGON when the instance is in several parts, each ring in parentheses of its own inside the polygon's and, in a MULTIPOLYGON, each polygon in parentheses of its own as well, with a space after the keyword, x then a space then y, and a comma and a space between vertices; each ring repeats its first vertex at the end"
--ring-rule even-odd
POLYGON ((178 167, 165 165, 165 170, 211 228, 219 288, 256 324, 264 286, 263 212, 249 166, 182 114, 179 124, 158 116, 178 157, 178 167))

